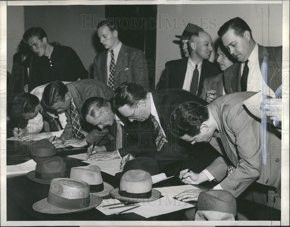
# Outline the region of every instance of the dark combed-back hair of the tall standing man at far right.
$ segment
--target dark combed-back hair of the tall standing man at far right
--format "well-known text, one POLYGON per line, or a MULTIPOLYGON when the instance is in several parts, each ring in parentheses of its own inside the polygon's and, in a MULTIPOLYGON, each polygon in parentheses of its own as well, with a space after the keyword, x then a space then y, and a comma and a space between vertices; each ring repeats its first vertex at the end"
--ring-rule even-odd
POLYGON ((245 31, 249 31, 251 39, 253 39, 251 28, 246 23, 246 21, 240 17, 235 17, 229 21, 226 21, 226 23, 224 23, 218 30, 218 36, 222 37, 230 29, 233 29, 235 34, 240 37, 244 36, 245 31))

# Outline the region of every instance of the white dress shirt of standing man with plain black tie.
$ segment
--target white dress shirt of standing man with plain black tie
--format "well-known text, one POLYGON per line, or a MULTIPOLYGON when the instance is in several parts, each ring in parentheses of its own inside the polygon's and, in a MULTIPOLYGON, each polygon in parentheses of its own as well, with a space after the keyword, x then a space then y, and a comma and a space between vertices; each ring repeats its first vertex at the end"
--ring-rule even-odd
MULTIPOLYGON (((249 56, 249 74, 248 74, 248 80, 247 80, 247 91, 262 91, 262 93, 275 97, 275 92, 269 88, 267 83, 262 78, 261 74, 261 66, 259 64, 259 58, 258 58, 258 43, 256 43, 253 51, 251 52, 251 55, 249 56)), ((241 66, 241 75, 243 74, 245 63, 242 63, 241 66)))

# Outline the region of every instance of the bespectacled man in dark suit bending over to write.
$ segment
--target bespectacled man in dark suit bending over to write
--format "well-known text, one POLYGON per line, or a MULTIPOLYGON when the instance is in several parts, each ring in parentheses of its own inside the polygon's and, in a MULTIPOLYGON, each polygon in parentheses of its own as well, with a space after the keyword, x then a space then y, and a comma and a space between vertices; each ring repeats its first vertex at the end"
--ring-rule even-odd
MULTIPOLYGON (((169 91, 168 95, 153 94, 136 83, 125 82, 115 90, 113 103, 129 121, 148 121, 147 133, 151 134, 151 144, 155 147, 155 152, 143 152, 140 156, 156 159, 160 172, 174 175, 179 170, 181 162, 190 155, 190 150, 198 153, 198 157, 192 160, 191 165, 192 169, 200 172, 218 157, 218 152, 207 144, 199 148, 195 147, 197 149, 191 148, 189 143, 170 133, 168 120, 174 108, 185 100, 195 100, 202 104, 206 102, 184 90, 170 89, 169 91)), ((140 131, 140 133, 144 132, 140 131)), ((123 157, 125 158, 126 156, 123 157)))

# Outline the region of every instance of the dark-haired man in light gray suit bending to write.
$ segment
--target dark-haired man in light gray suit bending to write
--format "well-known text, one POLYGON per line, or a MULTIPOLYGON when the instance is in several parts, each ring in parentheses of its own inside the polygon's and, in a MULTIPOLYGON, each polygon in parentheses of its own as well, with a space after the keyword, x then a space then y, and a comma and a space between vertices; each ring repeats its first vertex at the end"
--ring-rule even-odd
MULTIPOLYGON (((182 170, 180 179, 186 184, 215 180, 220 184, 213 189, 229 191, 235 197, 256 181, 275 188, 276 194, 268 194, 267 205, 281 209, 281 135, 270 126, 263 131, 261 122, 245 108, 243 102, 254 94, 236 92, 218 97, 207 106, 186 102, 175 109, 171 125, 177 125, 181 139, 194 144, 211 143, 212 137, 220 137, 226 152, 224 158, 218 157, 198 174, 182 170), (262 141, 263 135, 266 141, 262 141)), ((185 191, 176 198, 196 200, 198 194, 196 190, 185 191)))

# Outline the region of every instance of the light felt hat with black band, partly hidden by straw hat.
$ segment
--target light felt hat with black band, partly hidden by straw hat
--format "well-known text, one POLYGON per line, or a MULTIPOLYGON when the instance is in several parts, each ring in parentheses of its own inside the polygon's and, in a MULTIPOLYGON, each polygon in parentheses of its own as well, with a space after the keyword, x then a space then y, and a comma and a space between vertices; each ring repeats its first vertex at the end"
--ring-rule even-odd
POLYGON ((70 169, 70 179, 81 180, 90 185, 90 193, 98 196, 109 195, 114 187, 103 182, 99 166, 79 166, 70 169))

